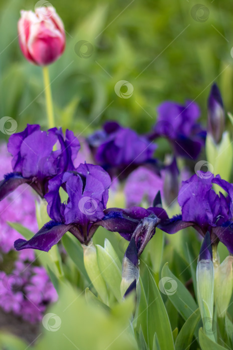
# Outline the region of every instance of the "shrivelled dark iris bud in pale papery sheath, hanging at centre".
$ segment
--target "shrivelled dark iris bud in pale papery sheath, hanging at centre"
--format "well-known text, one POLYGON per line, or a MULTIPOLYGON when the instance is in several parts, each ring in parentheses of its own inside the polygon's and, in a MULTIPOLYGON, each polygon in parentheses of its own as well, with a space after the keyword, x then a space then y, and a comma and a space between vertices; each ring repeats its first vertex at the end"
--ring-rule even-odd
POLYGON ((139 256, 155 234, 156 226, 160 221, 160 218, 156 215, 150 214, 148 217, 140 220, 132 234, 122 263, 121 291, 124 296, 129 294, 137 286, 139 278, 139 256))

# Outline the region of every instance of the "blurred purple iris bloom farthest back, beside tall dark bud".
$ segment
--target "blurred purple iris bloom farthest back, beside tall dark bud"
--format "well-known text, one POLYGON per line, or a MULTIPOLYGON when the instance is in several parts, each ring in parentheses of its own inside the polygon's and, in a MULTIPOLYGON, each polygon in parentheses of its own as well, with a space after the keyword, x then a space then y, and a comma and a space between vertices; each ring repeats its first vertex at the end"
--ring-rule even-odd
POLYGON ((181 105, 165 101, 158 106, 158 118, 149 139, 166 137, 175 155, 196 159, 205 144, 206 131, 197 122, 200 108, 193 101, 181 105))

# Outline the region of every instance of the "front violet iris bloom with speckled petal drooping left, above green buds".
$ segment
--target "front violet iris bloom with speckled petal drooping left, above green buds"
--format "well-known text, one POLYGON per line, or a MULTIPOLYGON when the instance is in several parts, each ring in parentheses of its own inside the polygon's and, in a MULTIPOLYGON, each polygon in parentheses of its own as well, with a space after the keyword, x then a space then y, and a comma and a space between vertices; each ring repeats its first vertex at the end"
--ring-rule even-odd
POLYGON ((58 174, 49 180, 47 211, 51 221, 31 239, 17 239, 16 250, 34 248, 48 251, 65 232, 70 231, 81 243, 88 244, 104 217, 111 179, 99 165, 80 164, 76 171, 58 174), (67 193, 62 202, 61 188, 67 193))

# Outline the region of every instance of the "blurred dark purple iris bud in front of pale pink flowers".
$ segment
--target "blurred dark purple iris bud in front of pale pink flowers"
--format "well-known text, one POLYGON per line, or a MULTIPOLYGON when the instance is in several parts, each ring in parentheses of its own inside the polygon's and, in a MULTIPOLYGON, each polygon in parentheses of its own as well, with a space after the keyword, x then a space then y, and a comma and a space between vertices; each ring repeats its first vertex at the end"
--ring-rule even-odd
POLYGON ((171 205, 177 199, 179 193, 179 169, 176 158, 169 165, 166 165, 164 170, 164 186, 163 194, 166 205, 171 205))

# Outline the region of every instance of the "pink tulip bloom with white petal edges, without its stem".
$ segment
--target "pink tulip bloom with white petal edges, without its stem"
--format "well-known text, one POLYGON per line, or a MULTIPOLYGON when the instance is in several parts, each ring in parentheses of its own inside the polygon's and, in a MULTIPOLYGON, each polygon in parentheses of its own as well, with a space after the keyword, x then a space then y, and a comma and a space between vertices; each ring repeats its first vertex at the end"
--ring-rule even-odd
POLYGON ((54 62, 65 48, 64 26, 55 8, 42 6, 20 14, 19 45, 25 58, 37 65, 54 62))

